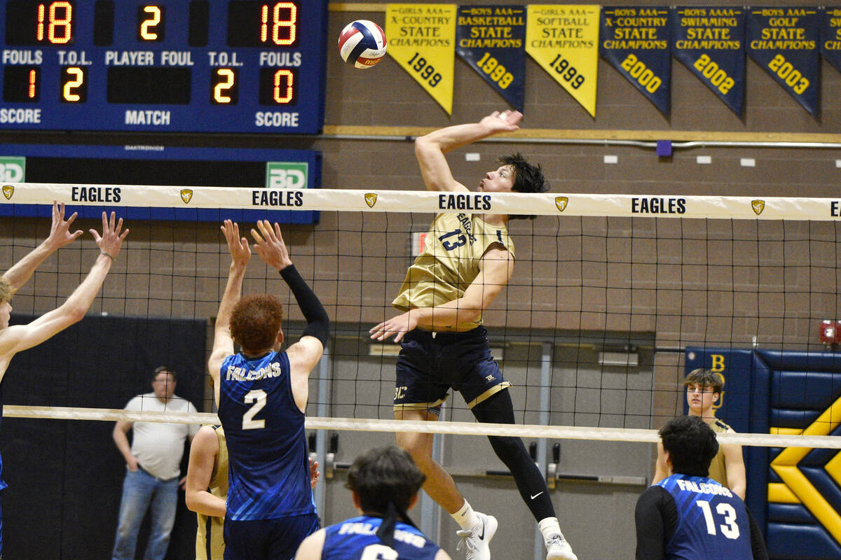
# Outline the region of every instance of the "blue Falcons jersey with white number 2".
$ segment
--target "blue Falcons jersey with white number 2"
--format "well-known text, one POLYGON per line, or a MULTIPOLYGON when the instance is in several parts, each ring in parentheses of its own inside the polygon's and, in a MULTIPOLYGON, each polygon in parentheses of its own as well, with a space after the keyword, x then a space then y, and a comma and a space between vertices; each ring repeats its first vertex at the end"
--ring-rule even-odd
POLYGON ((226 519, 315 513, 304 413, 292 394, 287 354, 229 356, 222 363, 219 400, 228 443, 226 519))

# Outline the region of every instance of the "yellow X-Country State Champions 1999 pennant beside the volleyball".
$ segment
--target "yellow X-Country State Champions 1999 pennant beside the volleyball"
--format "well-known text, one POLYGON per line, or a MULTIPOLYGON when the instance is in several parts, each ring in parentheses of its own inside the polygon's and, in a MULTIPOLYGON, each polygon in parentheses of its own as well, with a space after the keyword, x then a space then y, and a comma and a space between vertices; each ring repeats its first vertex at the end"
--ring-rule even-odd
POLYGON ((452 114, 456 5, 388 4, 385 34, 389 55, 452 114))

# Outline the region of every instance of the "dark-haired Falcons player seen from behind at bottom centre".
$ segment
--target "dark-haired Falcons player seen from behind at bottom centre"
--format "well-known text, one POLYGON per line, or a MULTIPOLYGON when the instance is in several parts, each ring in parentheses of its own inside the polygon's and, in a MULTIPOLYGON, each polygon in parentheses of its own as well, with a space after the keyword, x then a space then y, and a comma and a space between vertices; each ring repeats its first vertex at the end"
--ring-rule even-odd
POLYGON ((369 449, 351 465, 347 488, 361 514, 308 536, 295 560, 450 560, 412 523, 424 475, 399 447, 369 449))

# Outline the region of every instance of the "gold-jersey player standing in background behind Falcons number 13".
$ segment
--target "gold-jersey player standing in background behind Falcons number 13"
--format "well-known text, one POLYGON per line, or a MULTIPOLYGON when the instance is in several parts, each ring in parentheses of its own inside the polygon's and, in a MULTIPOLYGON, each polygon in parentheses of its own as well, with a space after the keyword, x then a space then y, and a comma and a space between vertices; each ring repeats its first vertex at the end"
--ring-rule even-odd
MULTIPOLYGON (((716 418, 713 406, 718 402, 724 389, 722 376, 709 369, 693 369, 686 379, 686 403, 689 405, 689 416, 699 416, 707 426, 716 433, 736 433, 732 427, 716 418)), ((666 478, 666 465, 663 449, 658 446, 657 466, 654 471, 653 483, 666 478)), ((748 482, 745 478, 744 458, 742 446, 734 443, 718 446, 718 453, 710 463, 710 478, 717 480, 727 488, 733 490, 739 498, 744 500, 748 482)))

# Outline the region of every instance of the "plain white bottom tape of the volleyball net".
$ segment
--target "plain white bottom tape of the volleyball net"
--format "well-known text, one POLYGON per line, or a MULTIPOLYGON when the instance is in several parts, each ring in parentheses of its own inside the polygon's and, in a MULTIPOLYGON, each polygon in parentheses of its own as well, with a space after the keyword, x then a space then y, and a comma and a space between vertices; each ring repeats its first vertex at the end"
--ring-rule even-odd
MULTIPOLYGON (((5 406, 3 416, 50 420, 99 420, 171 422, 180 424, 219 424, 219 417, 209 412, 167 414, 152 411, 123 411, 105 408, 66 406, 5 406)), ((537 424, 492 424, 460 421, 374 420, 363 418, 326 418, 307 416, 308 430, 353 430, 359 432, 423 432, 463 436, 516 436, 546 439, 579 439, 606 442, 659 442, 656 430, 635 428, 598 428, 540 426, 537 424)), ((828 432, 828 430, 827 430, 828 432)), ((815 447, 841 449, 841 437, 790 434, 717 434, 719 442, 757 447, 815 447)))

